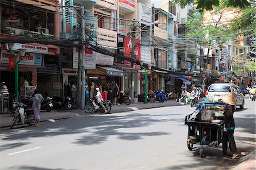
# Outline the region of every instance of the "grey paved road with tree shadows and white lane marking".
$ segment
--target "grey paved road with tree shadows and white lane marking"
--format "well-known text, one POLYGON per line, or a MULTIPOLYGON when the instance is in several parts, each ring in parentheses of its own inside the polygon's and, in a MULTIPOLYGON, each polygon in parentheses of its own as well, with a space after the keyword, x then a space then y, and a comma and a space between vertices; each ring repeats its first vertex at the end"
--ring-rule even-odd
MULTIPOLYGON (((255 103, 235 112, 238 150, 255 148, 255 103)), ((44 122, 41 127, 2 129, 1 169, 226 169, 222 150, 188 151, 184 117, 190 106, 44 122)))

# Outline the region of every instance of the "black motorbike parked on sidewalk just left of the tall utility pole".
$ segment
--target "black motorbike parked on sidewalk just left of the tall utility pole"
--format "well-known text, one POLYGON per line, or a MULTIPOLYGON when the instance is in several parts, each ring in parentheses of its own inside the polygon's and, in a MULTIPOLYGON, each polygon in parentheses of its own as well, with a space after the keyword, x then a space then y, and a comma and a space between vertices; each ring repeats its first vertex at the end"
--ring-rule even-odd
POLYGON ((71 110, 73 109, 75 101, 71 99, 71 97, 59 97, 59 96, 53 96, 52 104, 54 109, 61 109, 63 107, 66 107, 66 109, 71 110))

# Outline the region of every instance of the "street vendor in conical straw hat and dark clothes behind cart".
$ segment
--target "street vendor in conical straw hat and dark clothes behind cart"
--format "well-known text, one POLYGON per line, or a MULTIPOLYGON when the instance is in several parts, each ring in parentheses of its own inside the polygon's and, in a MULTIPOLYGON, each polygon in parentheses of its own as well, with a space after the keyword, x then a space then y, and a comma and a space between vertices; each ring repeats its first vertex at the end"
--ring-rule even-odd
POLYGON ((224 109, 220 109, 220 110, 224 111, 226 135, 228 136, 229 148, 232 152, 231 159, 238 159, 240 157, 238 155, 236 142, 234 140, 235 122, 234 122, 234 117, 233 117, 235 106, 237 105, 237 102, 234 99, 233 94, 224 94, 221 96, 221 100, 226 103, 224 109))

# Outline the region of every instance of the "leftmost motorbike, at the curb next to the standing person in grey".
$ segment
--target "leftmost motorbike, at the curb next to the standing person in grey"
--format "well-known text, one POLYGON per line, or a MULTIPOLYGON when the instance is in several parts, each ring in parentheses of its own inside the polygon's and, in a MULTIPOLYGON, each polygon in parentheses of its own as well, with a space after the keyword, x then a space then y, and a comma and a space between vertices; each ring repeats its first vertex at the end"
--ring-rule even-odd
POLYGON ((36 119, 34 116, 34 109, 32 107, 28 107, 27 105, 24 105, 24 103, 16 102, 15 105, 17 105, 13 121, 11 121, 11 127, 15 125, 35 125, 36 119))

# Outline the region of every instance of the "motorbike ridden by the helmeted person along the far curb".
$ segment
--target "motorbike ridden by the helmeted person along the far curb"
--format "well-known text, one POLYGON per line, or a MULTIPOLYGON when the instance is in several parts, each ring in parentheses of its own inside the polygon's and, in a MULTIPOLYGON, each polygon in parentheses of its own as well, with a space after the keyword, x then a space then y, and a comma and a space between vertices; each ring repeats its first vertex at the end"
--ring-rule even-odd
MULTIPOLYGON (((110 100, 103 101, 103 105, 105 106, 107 113, 110 113, 111 106, 112 106, 111 101, 110 100)), ((104 113, 104 110, 102 109, 100 103, 95 102, 95 98, 88 99, 88 101, 86 102, 86 105, 84 107, 84 111, 85 111, 85 113, 92 113, 93 111, 101 111, 102 113, 104 113)))

